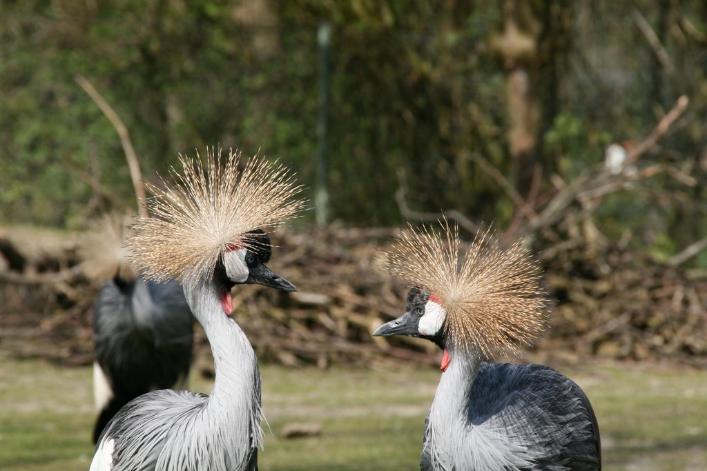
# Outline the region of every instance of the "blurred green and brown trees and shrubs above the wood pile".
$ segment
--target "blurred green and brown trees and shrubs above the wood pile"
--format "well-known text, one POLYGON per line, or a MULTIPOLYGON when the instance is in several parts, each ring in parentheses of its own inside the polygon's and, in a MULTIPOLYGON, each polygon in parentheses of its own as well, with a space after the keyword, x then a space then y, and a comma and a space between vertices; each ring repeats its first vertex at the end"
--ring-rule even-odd
POLYGON ((530 198, 610 143, 630 148, 686 95, 644 158, 695 180, 659 174, 607 198, 597 224, 664 256, 701 237, 707 5, 689 0, 2 1, 0 222, 75 229, 134 208, 78 74, 126 124, 144 179, 220 143, 281 157, 313 200, 322 21, 329 220, 399 225, 403 188, 415 210, 506 227, 518 208, 479 156, 530 198))

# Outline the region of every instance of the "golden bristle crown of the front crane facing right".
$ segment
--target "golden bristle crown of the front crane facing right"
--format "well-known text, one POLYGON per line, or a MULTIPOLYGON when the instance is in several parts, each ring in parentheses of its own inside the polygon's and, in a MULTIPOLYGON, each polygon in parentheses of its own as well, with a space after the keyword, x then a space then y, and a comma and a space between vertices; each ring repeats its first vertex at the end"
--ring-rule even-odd
POLYGON ((152 217, 133 226, 129 247, 141 273, 151 280, 187 281, 211 277, 218 258, 234 246, 259 244, 255 229, 274 228, 298 215, 305 202, 294 199, 302 189, 278 162, 255 155, 239 169, 240 153, 207 148, 206 164, 180 154, 182 172, 174 168, 163 189, 146 202, 152 217))

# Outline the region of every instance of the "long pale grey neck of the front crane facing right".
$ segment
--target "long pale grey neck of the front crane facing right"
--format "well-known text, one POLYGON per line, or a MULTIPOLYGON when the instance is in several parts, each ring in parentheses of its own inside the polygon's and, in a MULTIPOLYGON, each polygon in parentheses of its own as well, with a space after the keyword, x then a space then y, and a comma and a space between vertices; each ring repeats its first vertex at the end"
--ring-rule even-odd
POLYGON ((213 282, 185 282, 184 290, 214 354, 216 381, 201 418, 211 440, 223 443, 233 463, 242 463, 253 444, 262 444, 255 352, 240 326, 223 312, 213 282))

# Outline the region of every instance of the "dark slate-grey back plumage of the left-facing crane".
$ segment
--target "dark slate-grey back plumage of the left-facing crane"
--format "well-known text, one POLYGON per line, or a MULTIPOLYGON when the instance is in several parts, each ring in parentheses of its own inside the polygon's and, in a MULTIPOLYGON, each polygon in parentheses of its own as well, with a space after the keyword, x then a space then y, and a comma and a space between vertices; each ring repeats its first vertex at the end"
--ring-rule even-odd
MULTIPOLYGON (((528 470, 601 469, 599 425, 590 401, 576 383, 548 366, 482 362, 466 419, 468 427, 493 422, 504 434, 525 437, 520 441, 538 456, 528 470)), ((420 470, 433 470, 427 447, 420 470)))

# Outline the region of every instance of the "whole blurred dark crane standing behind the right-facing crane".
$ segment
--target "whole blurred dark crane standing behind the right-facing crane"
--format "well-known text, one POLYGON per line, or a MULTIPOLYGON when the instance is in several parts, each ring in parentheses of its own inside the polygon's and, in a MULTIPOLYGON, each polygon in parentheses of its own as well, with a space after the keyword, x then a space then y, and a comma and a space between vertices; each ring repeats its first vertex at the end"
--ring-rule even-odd
POLYGON ((124 242, 131 217, 103 217, 83 249, 86 273, 105 280, 93 303, 93 443, 121 407, 151 390, 185 388, 194 321, 175 280, 137 276, 124 242))

